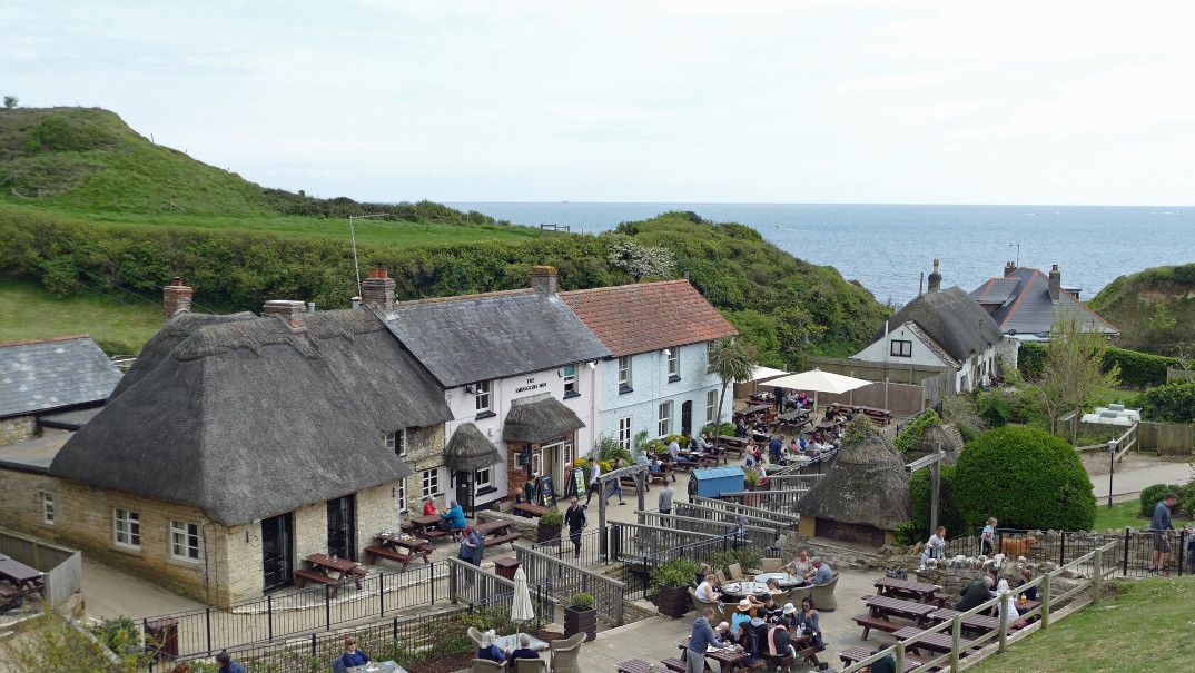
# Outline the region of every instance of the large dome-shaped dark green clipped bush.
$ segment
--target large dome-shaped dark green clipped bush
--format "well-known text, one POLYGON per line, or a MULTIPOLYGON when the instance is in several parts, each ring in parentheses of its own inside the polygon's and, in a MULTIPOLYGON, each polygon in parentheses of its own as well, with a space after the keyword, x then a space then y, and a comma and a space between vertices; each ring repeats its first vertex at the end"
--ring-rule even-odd
POLYGON ((968 527, 995 516, 1001 527, 1085 531, 1096 520, 1096 498, 1079 455, 1042 430, 985 433, 958 455, 952 487, 968 527))

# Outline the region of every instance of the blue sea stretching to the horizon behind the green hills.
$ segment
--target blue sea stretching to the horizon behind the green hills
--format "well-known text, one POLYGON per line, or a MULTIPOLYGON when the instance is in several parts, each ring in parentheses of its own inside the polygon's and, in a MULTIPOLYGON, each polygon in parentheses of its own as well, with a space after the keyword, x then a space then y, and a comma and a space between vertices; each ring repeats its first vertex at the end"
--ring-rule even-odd
POLYGON ((1091 299, 1122 275, 1195 262, 1195 206, 884 206, 813 203, 448 203, 515 225, 598 233, 668 210, 739 222, 782 250, 838 269, 878 301, 906 304, 939 261, 942 287, 970 292, 1006 262, 1091 299))

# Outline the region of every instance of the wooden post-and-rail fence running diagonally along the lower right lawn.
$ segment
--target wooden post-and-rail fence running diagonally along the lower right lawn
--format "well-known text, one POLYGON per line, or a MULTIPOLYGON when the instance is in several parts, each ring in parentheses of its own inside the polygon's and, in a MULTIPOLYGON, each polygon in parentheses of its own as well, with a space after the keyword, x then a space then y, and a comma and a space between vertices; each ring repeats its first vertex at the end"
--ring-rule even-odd
POLYGON ((864 671, 866 667, 871 666, 876 661, 880 661, 881 659, 889 655, 891 655, 896 660, 896 671, 905 671, 906 653, 911 649, 917 649, 918 643, 929 640, 930 636, 933 636, 936 634, 946 635, 950 637, 951 641, 950 651, 940 654, 930 660, 921 660, 921 663, 919 663, 913 668, 909 668, 908 673, 923 673, 927 671, 945 669, 948 667, 951 672, 957 672, 960 668, 958 660, 962 656, 962 654, 967 650, 970 650, 973 653, 968 657, 968 661, 972 663, 974 663, 975 661, 982 661, 983 659, 993 654, 1003 653, 1007 648, 1010 641, 1017 641, 1023 637, 1028 637, 1030 634, 1034 634, 1037 630, 1043 630, 1049 628, 1052 622, 1056 622, 1059 619, 1068 617, 1070 614, 1073 614, 1074 612, 1083 610, 1087 605, 1098 604, 1101 600, 1101 592, 1103 591, 1103 582, 1107 581, 1110 575, 1115 574, 1116 553, 1117 553, 1116 543, 1114 542, 1107 543, 1099 546, 1098 549, 1084 553, 1083 556, 1076 558, 1071 563, 1067 563, 1066 565, 1062 565, 1061 568, 1052 573, 1043 574, 1042 576, 1035 579, 1034 581, 1025 583, 1023 587, 1017 587, 1018 591, 1028 589, 1030 587, 1038 587, 1040 588, 1038 594, 1041 595, 1042 601, 1041 605, 1035 607, 1034 610, 1029 610, 1018 614, 1017 617, 1018 622, 1029 619, 1037 619, 1037 622, 1035 624, 1021 629, 1016 634, 1010 631, 1009 611, 1001 608, 999 611, 1000 612, 999 628, 992 631, 980 634, 979 636, 972 640, 962 638, 963 620, 974 614, 979 614, 992 610, 1000 601, 1009 600, 1006 595, 1001 595, 992 600, 988 600, 987 602, 973 610, 958 613, 954 616, 950 620, 943 622, 937 626, 931 626, 930 629, 926 629, 911 638, 897 641, 896 644, 884 648, 880 650, 877 654, 874 654, 866 659, 863 659, 842 668, 842 673, 853 673, 856 671, 864 671), (1091 575, 1089 580, 1077 581, 1076 586, 1073 586, 1071 589, 1053 595, 1050 587, 1052 580, 1056 577, 1064 577, 1071 573, 1080 573, 1083 568, 1091 569, 1091 575), (1091 591, 1090 600, 1087 602, 1080 602, 1081 596, 1079 594, 1089 589, 1091 591), (1059 610, 1060 607, 1064 607, 1067 604, 1070 604, 1073 607, 1068 611, 1059 610), (997 647, 994 649, 991 649, 989 646, 992 644, 995 644, 997 647), (976 649, 979 649, 979 651, 975 651, 976 649))

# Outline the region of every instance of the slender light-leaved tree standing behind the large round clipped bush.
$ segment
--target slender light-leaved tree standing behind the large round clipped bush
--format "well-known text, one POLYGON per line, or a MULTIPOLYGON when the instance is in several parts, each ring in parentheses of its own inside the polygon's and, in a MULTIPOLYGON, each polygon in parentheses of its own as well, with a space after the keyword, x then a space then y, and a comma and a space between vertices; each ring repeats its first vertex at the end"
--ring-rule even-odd
MULTIPOLYGON (((1093 403, 1101 391, 1120 383, 1119 365, 1102 371, 1108 338, 1085 328, 1086 322, 1078 310, 1055 310, 1042 377, 1027 386, 1046 409, 1052 433, 1058 432, 1058 420, 1062 415, 1083 414, 1083 408, 1093 403)), ((1077 439, 1077 433, 1078 423, 1072 427, 1071 441, 1077 439)))

